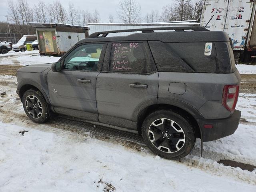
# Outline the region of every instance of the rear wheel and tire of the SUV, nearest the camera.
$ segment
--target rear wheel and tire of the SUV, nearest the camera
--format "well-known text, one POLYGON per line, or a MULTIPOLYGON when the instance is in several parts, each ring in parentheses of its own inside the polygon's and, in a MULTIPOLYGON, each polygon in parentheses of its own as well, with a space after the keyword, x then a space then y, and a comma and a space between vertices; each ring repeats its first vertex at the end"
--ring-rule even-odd
POLYGON ((180 159, 196 142, 190 123, 170 110, 152 112, 142 124, 142 137, 150 150, 166 159, 180 159))

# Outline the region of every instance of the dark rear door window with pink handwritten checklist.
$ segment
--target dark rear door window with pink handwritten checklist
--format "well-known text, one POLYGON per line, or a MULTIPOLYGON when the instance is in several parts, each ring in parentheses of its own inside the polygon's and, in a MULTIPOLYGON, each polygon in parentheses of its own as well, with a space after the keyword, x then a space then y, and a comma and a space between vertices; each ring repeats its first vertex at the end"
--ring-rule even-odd
POLYGON ((144 43, 112 43, 109 71, 147 72, 149 58, 144 43))

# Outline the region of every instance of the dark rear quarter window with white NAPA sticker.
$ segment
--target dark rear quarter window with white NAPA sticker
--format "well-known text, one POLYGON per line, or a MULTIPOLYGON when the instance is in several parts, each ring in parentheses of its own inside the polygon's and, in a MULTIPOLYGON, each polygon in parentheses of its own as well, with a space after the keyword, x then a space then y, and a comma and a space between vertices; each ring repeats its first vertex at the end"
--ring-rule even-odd
POLYGON ((207 42, 162 43, 150 41, 150 48, 158 71, 218 73, 218 59, 214 42, 211 54, 205 55, 207 42))

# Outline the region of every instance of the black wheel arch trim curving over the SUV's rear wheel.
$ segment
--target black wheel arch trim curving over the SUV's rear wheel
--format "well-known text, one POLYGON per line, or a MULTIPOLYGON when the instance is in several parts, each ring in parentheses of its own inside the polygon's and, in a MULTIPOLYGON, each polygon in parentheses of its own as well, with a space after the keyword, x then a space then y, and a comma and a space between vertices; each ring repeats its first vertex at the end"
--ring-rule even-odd
MULTIPOLYGON (((180 101, 181 102, 181 101, 180 101)), ((142 128, 142 123, 144 119, 152 112, 156 110, 172 110, 173 112, 176 112, 183 116, 184 118, 188 119, 190 124, 193 126, 195 132, 196 132, 196 137, 197 138, 202 138, 202 132, 200 130, 200 126, 198 125, 198 122, 196 121, 196 118, 202 118, 202 115, 194 108, 191 110, 188 107, 185 107, 184 105, 178 105, 178 102, 173 102, 173 103, 158 103, 158 104, 152 104, 149 105, 145 108, 143 108, 138 116, 137 116, 137 130, 138 133, 141 134, 141 128, 142 128), (196 110, 196 111, 194 111, 196 110)), ((182 102, 181 102, 182 103, 182 102)))

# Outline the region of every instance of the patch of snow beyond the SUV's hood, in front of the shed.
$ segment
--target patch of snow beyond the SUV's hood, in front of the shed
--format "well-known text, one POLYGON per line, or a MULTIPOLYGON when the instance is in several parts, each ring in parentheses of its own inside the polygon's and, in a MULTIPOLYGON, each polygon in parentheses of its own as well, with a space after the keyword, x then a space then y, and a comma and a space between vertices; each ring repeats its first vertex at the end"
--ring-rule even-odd
POLYGON ((60 57, 41 56, 39 51, 14 52, 0 55, 0 65, 32 65, 57 62, 60 57))

